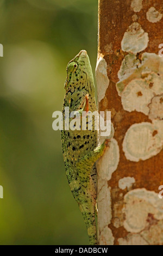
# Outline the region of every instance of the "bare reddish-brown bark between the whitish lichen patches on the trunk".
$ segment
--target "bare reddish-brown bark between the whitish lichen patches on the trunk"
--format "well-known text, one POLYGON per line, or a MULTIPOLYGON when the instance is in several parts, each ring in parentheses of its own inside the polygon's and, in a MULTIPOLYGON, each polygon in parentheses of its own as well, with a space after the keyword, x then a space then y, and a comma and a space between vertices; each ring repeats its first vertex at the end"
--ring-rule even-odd
MULTIPOLYGON (((127 236, 134 234, 134 232, 129 231, 129 229, 125 228, 123 225, 124 221, 126 221, 127 218, 127 216, 124 214, 124 211, 122 214, 122 209, 124 208, 124 204, 126 204, 126 202, 124 202, 125 194, 127 194, 130 190, 135 190, 135 188, 145 188, 147 191, 159 193, 158 187, 160 185, 163 185, 163 150, 161 150, 160 153, 156 154, 155 156, 149 157, 149 159, 147 160, 140 160, 138 162, 135 162, 127 159, 122 148, 124 136, 126 135, 131 125, 137 123, 139 124, 142 122, 152 123, 152 120, 145 113, 141 113, 138 111, 129 112, 124 110, 124 107, 122 106, 121 96, 118 95, 116 89, 116 83, 119 81, 117 75, 118 71, 121 68, 122 60, 128 54, 128 52, 123 51, 121 47, 124 33, 133 22, 139 23, 143 31, 148 33, 148 46, 145 48, 145 50, 135 54, 136 58, 140 60, 144 52, 158 54, 158 46, 161 43, 163 44, 163 18, 160 21, 154 23, 147 20, 147 11, 151 7, 154 7, 156 11, 159 11, 160 14, 163 13, 162 0, 144 0, 142 1, 141 10, 137 12, 134 11, 133 8, 131 8, 131 2, 133 1, 99 1, 98 58, 103 57, 107 63, 107 75, 110 83, 108 89, 106 89, 105 96, 100 102, 98 102, 98 106, 99 111, 111 111, 111 121, 115 129, 114 138, 116 139, 118 147, 120 149, 120 161, 118 162, 118 167, 115 172, 112 173, 111 179, 107 180, 108 187, 111 188, 110 192, 112 215, 111 221, 110 223, 108 223, 108 227, 111 229, 115 245, 119 244, 120 240, 118 239, 124 239, 123 242, 129 241, 130 239, 127 236), (118 186, 118 182, 120 179, 128 176, 134 177, 135 182, 131 186, 130 190, 128 190, 128 188, 122 190, 118 186), (115 210, 115 208, 118 209, 115 210), (121 219, 121 224, 118 224, 118 227, 115 227, 115 218, 121 219)), ((138 96, 141 97, 141 92, 139 92, 138 96)), ((156 136, 157 133, 158 131, 154 131, 153 136, 156 136)), ((100 165, 98 166, 98 172, 99 168, 101 168, 100 165)), ((100 177, 98 178, 100 179, 100 177)), ((99 190, 100 189, 101 188, 99 188, 99 190)), ((163 205, 163 199, 160 200, 162 200, 163 205)), ((99 211, 102 211, 101 208, 102 205, 99 206, 99 211)), ((156 223, 158 222, 156 222, 156 218, 153 217, 155 221, 152 222, 150 221, 152 220, 150 216, 153 216, 151 212, 149 212, 148 214, 146 228, 141 231, 144 232, 144 230, 148 230, 149 232, 149 229, 151 227, 157 229, 156 223), (149 223, 149 225, 147 225, 147 223, 149 223)), ((141 214, 139 217, 141 218, 141 214)), ((100 215, 100 218, 102 218, 102 215, 100 215)), ((160 224, 160 226, 161 225, 162 224, 160 224)), ((158 227, 158 229, 159 228, 160 227, 158 227)), ((162 230, 162 226, 160 229, 162 230)), ((141 231, 136 232, 136 235, 140 236, 141 231)), ((150 234, 147 234, 147 236, 151 234, 152 231, 150 231, 150 234)), ((101 231, 99 231, 99 238, 100 236, 101 231)), ((153 236, 155 236, 154 232, 153 236)), ((146 240, 145 236, 143 236, 143 239, 146 240)), ((99 243, 101 244, 105 244, 106 241, 107 237, 105 237, 105 239, 99 239, 99 243)), ((138 239, 136 241, 139 243, 140 240, 138 239)), ((163 239, 160 239, 159 236, 156 237, 154 240, 147 239, 146 241, 148 244, 163 244, 163 239)), ((129 243, 135 244, 136 242, 131 242, 130 240, 129 243)))

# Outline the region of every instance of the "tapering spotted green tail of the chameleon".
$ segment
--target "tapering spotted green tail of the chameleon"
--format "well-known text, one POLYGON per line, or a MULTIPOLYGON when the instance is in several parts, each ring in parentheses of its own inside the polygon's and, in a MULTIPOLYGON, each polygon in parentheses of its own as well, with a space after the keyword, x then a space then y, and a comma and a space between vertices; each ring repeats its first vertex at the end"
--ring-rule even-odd
POLYGON ((85 205, 79 205, 79 208, 86 224, 87 234, 89 235, 89 243, 90 245, 97 245, 97 230, 94 209, 92 209, 93 212, 91 212, 90 209, 85 211, 85 205))

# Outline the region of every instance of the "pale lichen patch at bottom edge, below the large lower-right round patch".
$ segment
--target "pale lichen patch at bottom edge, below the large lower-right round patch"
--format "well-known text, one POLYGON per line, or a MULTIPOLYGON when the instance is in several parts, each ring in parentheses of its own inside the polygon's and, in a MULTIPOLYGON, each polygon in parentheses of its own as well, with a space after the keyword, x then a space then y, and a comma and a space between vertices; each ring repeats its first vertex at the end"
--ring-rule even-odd
POLYGON ((128 234, 124 238, 118 239, 119 245, 148 245, 140 234, 128 234))

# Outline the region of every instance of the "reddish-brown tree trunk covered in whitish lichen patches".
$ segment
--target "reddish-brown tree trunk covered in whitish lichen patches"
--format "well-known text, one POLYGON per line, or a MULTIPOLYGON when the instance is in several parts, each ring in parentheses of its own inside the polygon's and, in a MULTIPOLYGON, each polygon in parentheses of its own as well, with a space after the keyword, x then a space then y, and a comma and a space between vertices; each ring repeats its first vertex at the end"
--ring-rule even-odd
POLYGON ((162 14, 162 0, 99 0, 98 107, 112 123, 97 163, 99 245, 163 245, 162 14))

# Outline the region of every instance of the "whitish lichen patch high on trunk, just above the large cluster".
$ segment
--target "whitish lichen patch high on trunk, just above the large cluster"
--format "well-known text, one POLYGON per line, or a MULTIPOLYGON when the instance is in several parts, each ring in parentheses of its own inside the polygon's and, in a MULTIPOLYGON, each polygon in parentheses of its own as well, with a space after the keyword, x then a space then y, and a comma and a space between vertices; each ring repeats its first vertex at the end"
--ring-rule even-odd
POLYGON ((147 48, 148 41, 148 33, 143 31, 138 22, 134 22, 128 27, 127 32, 124 33, 121 47, 125 52, 136 54, 147 48))

